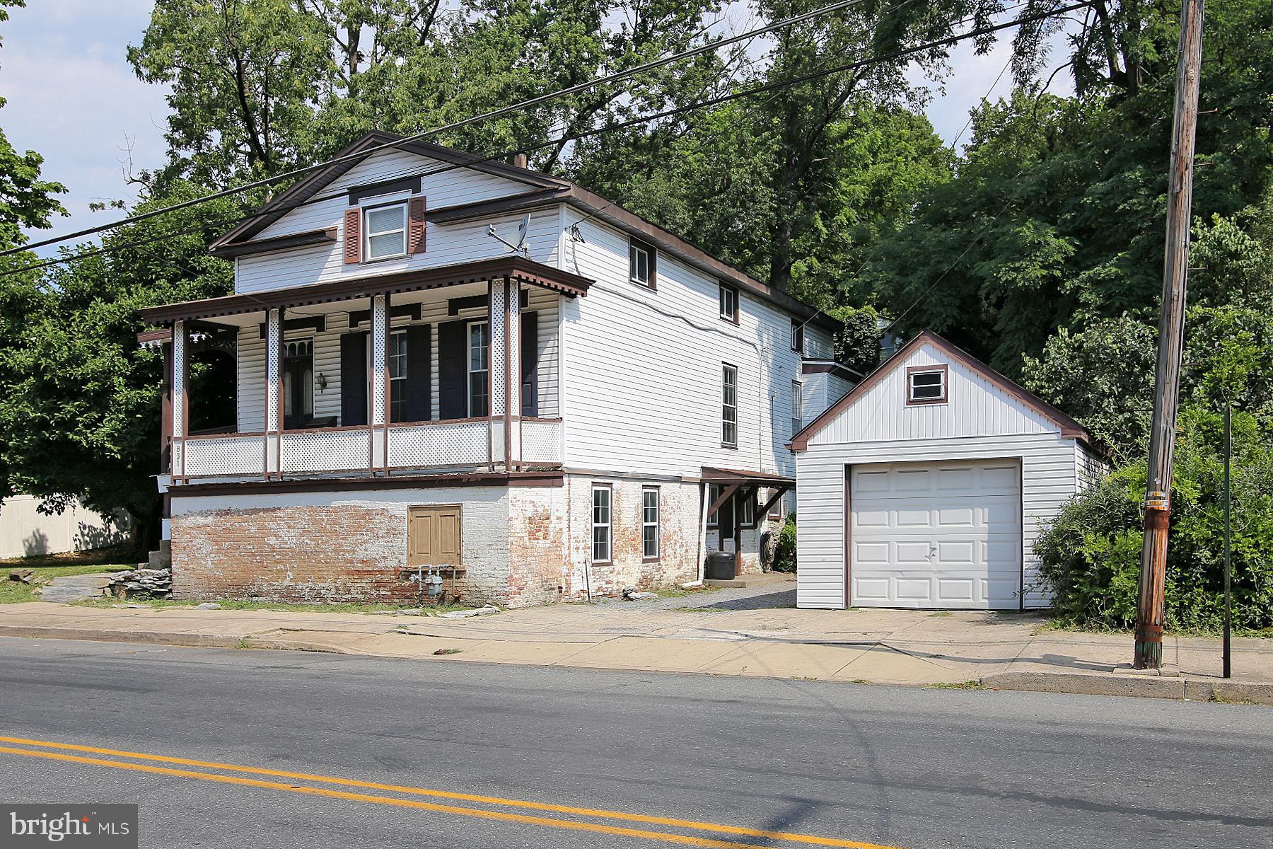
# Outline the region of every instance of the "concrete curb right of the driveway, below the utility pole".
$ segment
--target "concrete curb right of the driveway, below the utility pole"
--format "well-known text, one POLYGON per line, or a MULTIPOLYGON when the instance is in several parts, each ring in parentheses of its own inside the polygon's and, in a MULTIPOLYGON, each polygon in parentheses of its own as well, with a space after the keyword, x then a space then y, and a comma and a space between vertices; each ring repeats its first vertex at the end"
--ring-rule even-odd
POLYGON ((1273 705, 1273 684, 1245 684, 1223 678, 1090 675, 1082 672, 1001 672, 981 678, 981 686, 992 690, 1273 705))

